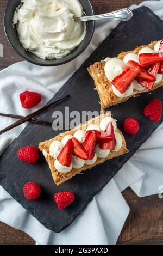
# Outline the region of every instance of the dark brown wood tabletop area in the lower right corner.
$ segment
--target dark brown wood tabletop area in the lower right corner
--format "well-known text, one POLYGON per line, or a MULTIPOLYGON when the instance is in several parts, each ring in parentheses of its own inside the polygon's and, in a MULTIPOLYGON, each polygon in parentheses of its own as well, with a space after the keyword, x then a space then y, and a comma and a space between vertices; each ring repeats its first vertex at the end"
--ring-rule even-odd
POLYGON ((123 193, 130 213, 118 245, 163 245, 163 204, 158 195, 138 198, 128 188, 123 193))

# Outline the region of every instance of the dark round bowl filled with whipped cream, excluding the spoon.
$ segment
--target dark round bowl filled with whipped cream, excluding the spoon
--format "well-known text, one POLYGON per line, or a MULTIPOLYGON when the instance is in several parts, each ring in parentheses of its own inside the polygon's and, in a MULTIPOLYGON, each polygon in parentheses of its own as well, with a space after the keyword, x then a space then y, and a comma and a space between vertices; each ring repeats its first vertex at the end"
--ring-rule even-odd
POLYGON ((56 66, 78 57, 89 45, 95 21, 74 21, 83 15, 94 15, 89 1, 9 0, 4 28, 21 57, 37 65, 56 66))

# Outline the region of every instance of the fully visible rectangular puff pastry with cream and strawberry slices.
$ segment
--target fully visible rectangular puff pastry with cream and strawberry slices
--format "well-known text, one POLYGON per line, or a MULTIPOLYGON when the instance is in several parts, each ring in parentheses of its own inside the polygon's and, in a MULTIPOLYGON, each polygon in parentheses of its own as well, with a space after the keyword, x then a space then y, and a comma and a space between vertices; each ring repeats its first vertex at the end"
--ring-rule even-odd
POLYGON ((41 142, 39 149, 57 185, 105 160, 128 153, 125 139, 110 113, 41 142))

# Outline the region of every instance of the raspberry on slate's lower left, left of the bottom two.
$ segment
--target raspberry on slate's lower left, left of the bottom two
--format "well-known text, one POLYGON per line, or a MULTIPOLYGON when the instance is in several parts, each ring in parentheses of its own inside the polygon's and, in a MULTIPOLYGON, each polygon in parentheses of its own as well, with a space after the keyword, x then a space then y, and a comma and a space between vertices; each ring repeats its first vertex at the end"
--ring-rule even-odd
POLYGON ((35 182, 28 182, 23 187, 24 197, 28 200, 36 200, 40 197, 41 188, 40 185, 35 182))

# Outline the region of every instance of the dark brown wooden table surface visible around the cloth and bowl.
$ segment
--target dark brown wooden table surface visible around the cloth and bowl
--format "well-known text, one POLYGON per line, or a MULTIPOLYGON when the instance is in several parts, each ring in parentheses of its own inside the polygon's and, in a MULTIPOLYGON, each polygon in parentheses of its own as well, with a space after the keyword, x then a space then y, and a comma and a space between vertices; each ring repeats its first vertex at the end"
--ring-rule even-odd
MULTIPOLYGON (((0 70, 19 62, 20 57, 12 50, 3 31, 3 13, 7 0, 0 3, 0 44, 4 46, 4 57, 0 57, 0 70)), ((141 0, 92 0, 96 14, 112 11, 141 0)), ((138 198, 130 188, 123 193, 130 213, 117 245, 163 245, 163 204, 156 196, 138 198)), ((34 245, 35 242, 20 230, 0 222, 0 245, 34 245)))

